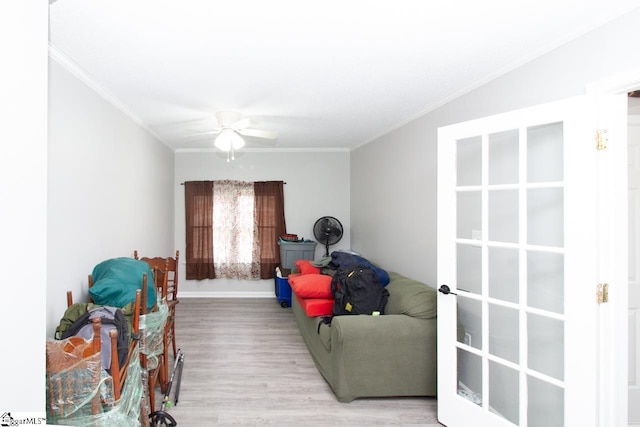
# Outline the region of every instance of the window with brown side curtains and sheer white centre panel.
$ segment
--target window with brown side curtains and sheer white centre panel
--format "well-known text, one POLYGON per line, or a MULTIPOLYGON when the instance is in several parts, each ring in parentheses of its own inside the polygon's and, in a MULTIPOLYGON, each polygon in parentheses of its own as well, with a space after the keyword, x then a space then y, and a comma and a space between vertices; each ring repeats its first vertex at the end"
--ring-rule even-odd
POLYGON ((268 279, 286 230, 283 182, 185 183, 187 279, 268 279))

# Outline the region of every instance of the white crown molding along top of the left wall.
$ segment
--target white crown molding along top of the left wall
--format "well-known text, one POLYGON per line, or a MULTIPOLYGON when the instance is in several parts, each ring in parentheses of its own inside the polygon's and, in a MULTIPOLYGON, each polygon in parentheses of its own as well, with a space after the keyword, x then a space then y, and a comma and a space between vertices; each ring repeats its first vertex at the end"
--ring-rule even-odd
POLYGON ((117 110, 122 112, 129 119, 133 120, 135 124, 140 126, 149 135, 162 142, 164 145, 174 151, 173 147, 171 147, 165 140, 163 140, 160 135, 158 135, 153 129, 147 126, 147 124, 143 122, 142 119, 140 119, 140 117, 138 117, 124 102, 122 102, 120 99, 118 99, 118 97, 105 89, 100 83, 96 82, 96 80, 91 77, 89 73, 82 69, 82 67, 76 64, 71 58, 65 55, 51 42, 49 42, 49 58, 51 58, 65 70, 73 74, 76 78, 78 78, 78 80, 86 84, 90 89, 97 93, 98 96, 113 105, 117 110))

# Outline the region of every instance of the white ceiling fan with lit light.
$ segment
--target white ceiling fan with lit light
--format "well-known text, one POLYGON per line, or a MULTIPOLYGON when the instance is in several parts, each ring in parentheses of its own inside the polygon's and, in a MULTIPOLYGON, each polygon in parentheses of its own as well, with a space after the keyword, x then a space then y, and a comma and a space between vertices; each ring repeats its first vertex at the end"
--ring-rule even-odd
POLYGON ((236 111, 218 111, 216 112, 216 120, 218 121, 218 127, 208 132, 191 135, 191 137, 218 135, 213 145, 227 153, 227 161, 234 160, 235 151, 244 147, 245 140, 242 138, 243 136, 271 140, 278 137, 276 132, 251 128, 251 120, 248 117, 242 117, 242 114, 236 111))

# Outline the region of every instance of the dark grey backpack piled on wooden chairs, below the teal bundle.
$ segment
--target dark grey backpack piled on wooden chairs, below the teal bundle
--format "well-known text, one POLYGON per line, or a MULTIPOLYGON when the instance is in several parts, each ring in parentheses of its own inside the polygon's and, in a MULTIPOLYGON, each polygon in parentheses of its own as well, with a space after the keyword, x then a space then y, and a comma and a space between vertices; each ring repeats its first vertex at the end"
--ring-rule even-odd
POLYGON ((93 319, 96 317, 100 317, 102 322, 100 329, 100 358, 103 369, 110 371, 111 367, 111 337, 109 337, 109 332, 112 329, 118 331, 116 339, 118 362, 120 367, 124 366, 129 355, 129 326, 126 317, 119 308, 100 306, 87 311, 64 331, 62 339, 76 335, 87 340, 92 339, 93 319))

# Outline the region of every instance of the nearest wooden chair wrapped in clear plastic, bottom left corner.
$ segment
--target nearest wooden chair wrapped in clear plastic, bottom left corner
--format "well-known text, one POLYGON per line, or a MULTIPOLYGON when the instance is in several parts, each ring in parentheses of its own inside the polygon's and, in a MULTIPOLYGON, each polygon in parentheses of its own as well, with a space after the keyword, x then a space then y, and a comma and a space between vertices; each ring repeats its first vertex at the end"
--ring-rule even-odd
MULTIPOLYGON (((140 301, 141 292, 138 290, 134 303, 132 325, 133 332, 136 334, 140 321, 140 301)), ((67 304, 69 306, 73 304, 70 291, 67 292, 67 304)), ((120 366, 117 348, 118 332, 116 330, 110 331, 111 366, 109 372, 113 400, 103 401, 99 392, 100 382, 104 375, 100 357, 101 327, 100 318, 93 319, 93 339, 90 341, 80 336, 64 340, 47 340, 47 413, 50 421, 57 423, 77 417, 95 416, 102 412, 103 404, 113 405, 120 400, 128 374, 129 362, 135 353, 138 341, 131 340, 126 363, 124 366, 120 366)))

